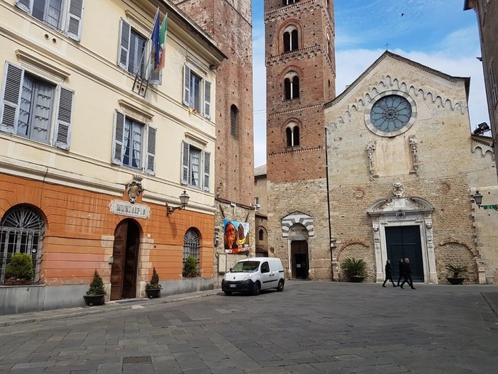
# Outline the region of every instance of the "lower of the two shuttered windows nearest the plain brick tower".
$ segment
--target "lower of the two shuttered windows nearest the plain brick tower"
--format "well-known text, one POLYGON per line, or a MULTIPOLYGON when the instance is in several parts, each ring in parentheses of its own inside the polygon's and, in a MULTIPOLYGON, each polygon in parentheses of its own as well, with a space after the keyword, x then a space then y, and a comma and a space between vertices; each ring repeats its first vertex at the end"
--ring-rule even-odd
POLYGON ((211 153, 182 142, 182 184, 209 191, 211 153))

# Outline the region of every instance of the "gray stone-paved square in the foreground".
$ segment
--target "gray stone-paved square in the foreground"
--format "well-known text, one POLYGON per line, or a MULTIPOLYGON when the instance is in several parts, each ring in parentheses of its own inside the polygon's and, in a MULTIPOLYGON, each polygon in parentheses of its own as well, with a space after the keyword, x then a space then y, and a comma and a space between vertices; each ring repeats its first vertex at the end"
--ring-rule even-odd
POLYGON ((0 373, 498 373, 498 286, 416 287, 287 281, 0 316, 0 373))

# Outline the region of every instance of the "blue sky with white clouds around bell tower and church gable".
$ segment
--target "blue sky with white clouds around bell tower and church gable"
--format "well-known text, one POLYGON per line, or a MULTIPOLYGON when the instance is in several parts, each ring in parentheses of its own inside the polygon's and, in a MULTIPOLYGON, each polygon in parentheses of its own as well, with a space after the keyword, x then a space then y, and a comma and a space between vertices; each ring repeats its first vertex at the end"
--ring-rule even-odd
MULTIPOLYGON (((255 167, 266 163, 263 1, 252 0, 255 167)), ((448 75, 470 77, 469 131, 478 123, 489 124, 482 62, 476 58, 481 55, 477 16, 463 11, 463 4, 464 0, 335 0, 336 95, 387 48, 448 75)))

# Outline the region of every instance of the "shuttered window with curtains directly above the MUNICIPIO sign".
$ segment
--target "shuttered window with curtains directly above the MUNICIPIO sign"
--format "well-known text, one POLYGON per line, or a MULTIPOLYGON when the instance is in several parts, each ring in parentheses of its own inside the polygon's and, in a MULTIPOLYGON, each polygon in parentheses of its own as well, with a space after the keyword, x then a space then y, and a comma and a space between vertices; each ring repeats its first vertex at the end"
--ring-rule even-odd
POLYGON ((112 162, 116 165, 155 172, 156 129, 135 121, 121 111, 114 115, 112 162), (147 141, 145 142, 145 136, 147 141), (143 157, 144 152, 147 157, 143 157))

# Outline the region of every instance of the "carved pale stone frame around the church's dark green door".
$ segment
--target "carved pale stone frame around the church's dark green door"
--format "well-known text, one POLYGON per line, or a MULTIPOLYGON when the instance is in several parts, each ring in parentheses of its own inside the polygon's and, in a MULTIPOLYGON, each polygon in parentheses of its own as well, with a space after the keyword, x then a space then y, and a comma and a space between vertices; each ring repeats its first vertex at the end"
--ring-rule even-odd
MULTIPOLYGON (((384 264, 387 260, 385 228, 387 226, 419 226, 424 282, 437 284, 432 228, 434 206, 422 197, 404 196, 404 186, 399 182, 394 183, 392 193, 394 197, 377 200, 367 210, 367 214, 372 217, 376 280, 377 282, 384 281, 384 264)), ((391 260, 393 265, 397 265, 393 259, 391 260)))

